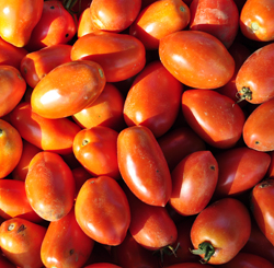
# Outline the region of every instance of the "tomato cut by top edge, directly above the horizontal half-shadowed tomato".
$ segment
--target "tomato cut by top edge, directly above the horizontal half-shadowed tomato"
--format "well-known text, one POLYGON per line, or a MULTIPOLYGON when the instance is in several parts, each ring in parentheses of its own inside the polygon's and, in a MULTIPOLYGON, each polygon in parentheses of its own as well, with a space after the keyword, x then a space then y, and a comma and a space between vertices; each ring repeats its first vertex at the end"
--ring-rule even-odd
POLYGON ((90 19, 99 30, 122 32, 137 18, 141 0, 92 0, 90 19))

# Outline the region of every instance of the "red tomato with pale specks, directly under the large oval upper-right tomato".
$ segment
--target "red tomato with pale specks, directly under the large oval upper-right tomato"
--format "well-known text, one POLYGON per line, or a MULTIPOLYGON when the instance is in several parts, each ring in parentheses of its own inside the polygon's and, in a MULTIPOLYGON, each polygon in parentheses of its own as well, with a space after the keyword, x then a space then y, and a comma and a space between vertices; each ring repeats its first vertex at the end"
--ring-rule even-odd
POLYGON ((185 91, 182 109, 191 128, 213 147, 232 148, 241 138, 246 121, 242 109, 216 91, 185 91))

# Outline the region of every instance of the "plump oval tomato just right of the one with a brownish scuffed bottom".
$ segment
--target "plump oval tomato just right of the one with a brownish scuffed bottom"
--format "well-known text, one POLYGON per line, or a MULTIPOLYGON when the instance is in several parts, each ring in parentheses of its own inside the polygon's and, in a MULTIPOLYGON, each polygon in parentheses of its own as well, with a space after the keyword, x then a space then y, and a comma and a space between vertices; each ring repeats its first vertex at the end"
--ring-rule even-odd
POLYGON ((104 245, 119 245, 130 223, 129 205, 118 183, 109 176, 88 179, 76 199, 76 220, 83 232, 104 245))

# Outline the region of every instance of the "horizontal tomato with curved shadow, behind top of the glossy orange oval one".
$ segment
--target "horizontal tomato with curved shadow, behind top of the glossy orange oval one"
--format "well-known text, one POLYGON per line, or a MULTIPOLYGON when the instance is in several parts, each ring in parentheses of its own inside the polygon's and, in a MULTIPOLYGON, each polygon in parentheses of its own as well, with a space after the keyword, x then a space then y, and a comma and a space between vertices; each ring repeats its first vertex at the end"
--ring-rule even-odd
POLYGON ((107 82, 117 82, 132 78, 145 67, 146 50, 132 35, 95 32, 76 40, 71 59, 95 61, 102 66, 107 82))

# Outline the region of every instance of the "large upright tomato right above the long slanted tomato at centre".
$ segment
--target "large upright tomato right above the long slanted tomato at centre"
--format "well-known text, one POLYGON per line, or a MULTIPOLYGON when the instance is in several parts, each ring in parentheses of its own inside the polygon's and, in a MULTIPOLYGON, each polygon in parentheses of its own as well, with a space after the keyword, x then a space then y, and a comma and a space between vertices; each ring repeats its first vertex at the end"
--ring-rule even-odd
POLYGON ((125 123, 128 127, 146 126, 156 138, 162 136, 176 119, 182 92, 183 85, 159 60, 147 65, 127 93, 125 123))

